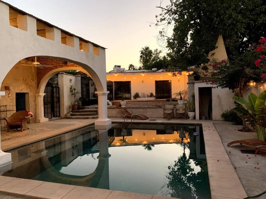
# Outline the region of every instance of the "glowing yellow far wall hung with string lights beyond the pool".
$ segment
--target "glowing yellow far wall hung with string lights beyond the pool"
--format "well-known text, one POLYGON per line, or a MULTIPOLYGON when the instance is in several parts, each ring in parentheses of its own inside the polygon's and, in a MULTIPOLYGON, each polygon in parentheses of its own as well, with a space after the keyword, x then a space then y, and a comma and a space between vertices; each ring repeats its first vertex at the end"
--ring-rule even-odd
POLYGON ((155 81, 157 80, 170 80, 172 95, 178 91, 187 90, 186 72, 182 72, 182 75, 178 75, 177 77, 173 77, 172 74, 168 72, 144 73, 144 76, 142 76, 142 74, 143 73, 117 73, 117 76, 115 76, 115 73, 107 73, 106 79, 110 81, 131 81, 132 100, 135 92, 139 92, 140 96, 141 93, 148 94, 150 92, 153 92, 155 95, 155 81))

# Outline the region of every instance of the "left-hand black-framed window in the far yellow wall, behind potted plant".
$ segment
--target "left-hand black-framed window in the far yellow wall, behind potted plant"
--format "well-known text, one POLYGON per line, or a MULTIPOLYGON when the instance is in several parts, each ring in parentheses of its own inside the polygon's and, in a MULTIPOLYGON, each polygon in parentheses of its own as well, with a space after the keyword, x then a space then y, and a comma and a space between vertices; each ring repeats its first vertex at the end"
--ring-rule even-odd
POLYGON ((123 82, 114 82, 114 99, 121 100, 122 98, 118 97, 120 93, 125 93, 126 97, 124 100, 131 100, 131 82, 123 81, 123 82))

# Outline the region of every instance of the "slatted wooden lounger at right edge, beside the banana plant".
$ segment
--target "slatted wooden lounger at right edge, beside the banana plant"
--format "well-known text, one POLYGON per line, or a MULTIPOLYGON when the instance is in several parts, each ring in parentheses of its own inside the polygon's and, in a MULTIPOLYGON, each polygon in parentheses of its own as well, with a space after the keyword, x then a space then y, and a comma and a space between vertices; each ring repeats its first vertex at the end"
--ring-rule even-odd
POLYGON ((233 144, 244 144, 248 145, 249 147, 255 149, 255 154, 257 154, 259 151, 266 152, 266 142, 258 139, 245 139, 245 140, 236 140, 229 142, 227 144, 227 147, 233 145, 233 144))

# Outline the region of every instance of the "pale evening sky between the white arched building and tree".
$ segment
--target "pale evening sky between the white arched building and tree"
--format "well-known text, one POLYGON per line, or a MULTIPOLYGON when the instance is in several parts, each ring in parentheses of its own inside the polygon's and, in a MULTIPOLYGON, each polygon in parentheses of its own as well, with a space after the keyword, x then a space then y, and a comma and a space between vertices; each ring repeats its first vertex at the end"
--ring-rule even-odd
MULTIPOLYGON (((139 51, 145 45, 161 48, 156 36, 156 8, 161 0, 4 0, 55 26, 108 48, 106 71, 115 64, 139 66, 139 51)), ((164 0, 162 5, 169 4, 164 0)))

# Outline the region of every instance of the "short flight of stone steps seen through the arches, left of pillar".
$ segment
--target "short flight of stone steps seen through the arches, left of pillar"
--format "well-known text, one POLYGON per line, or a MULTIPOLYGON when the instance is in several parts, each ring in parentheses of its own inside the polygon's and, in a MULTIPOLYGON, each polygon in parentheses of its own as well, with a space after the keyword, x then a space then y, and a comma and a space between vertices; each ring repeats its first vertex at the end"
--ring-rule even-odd
POLYGON ((70 116, 65 117, 66 119, 97 119, 98 118, 98 107, 96 106, 85 106, 83 110, 72 110, 70 116))

